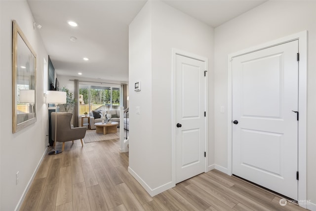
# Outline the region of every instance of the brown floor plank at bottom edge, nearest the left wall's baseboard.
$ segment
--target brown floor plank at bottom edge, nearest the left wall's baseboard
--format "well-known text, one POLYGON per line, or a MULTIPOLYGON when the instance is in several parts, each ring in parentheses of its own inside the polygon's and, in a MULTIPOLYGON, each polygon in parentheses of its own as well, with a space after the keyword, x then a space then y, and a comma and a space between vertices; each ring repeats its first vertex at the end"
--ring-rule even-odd
POLYGON ((40 195, 45 185, 46 178, 34 179, 28 194, 26 195, 20 211, 37 210, 40 202, 40 195))

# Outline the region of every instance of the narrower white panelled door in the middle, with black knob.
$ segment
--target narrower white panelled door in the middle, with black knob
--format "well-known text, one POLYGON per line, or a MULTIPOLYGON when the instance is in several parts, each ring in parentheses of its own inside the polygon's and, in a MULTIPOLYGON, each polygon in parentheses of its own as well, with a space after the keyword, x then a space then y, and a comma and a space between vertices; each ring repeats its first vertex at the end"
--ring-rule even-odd
POLYGON ((205 62, 176 55, 176 183, 205 168, 205 62))

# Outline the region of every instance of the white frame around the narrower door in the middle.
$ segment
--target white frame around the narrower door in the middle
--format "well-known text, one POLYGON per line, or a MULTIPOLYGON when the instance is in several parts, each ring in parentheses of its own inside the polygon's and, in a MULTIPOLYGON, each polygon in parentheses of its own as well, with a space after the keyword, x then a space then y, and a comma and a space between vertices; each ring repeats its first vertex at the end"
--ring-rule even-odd
MULTIPOLYGON (((200 61, 205 62, 205 70, 208 70, 208 59, 203 56, 199 56, 193 53, 189 53, 177 48, 172 48, 172 71, 171 71, 171 179, 172 179, 172 185, 176 185, 176 55, 189 57, 192 59, 197 59, 200 61)), ((208 75, 206 73, 206 77, 204 77, 205 82, 205 111, 206 114, 208 114, 208 75)), ((204 172, 207 172, 207 166, 208 166, 208 115, 206 115, 204 120, 205 125, 205 134, 204 134, 204 147, 206 152, 205 159, 205 166, 204 166, 204 172)))

